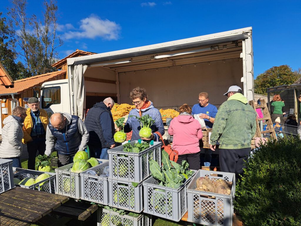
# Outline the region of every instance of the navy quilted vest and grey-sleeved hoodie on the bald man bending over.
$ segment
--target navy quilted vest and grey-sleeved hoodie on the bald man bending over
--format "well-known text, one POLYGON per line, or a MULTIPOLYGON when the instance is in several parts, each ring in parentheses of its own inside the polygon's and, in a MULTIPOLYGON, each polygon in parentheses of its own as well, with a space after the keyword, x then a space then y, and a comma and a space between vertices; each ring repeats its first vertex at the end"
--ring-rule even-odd
POLYGON ((54 148, 58 148, 59 150, 57 151, 61 155, 73 155, 79 150, 85 150, 87 146, 87 142, 89 140, 89 133, 83 121, 78 116, 70 115, 68 113, 62 114, 66 118, 66 125, 64 129, 54 130, 50 123, 50 120, 47 126, 45 154, 48 156, 51 154, 54 148), (74 125, 75 120, 77 121, 77 125, 74 125), (74 134, 75 132, 79 134, 74 134), (72 137, 71 139, 68 139, 68 133, 69 136, 72 137), (66 147, 64 148, 61 145, 62 137, 65 137, 64 143, 66 147))

